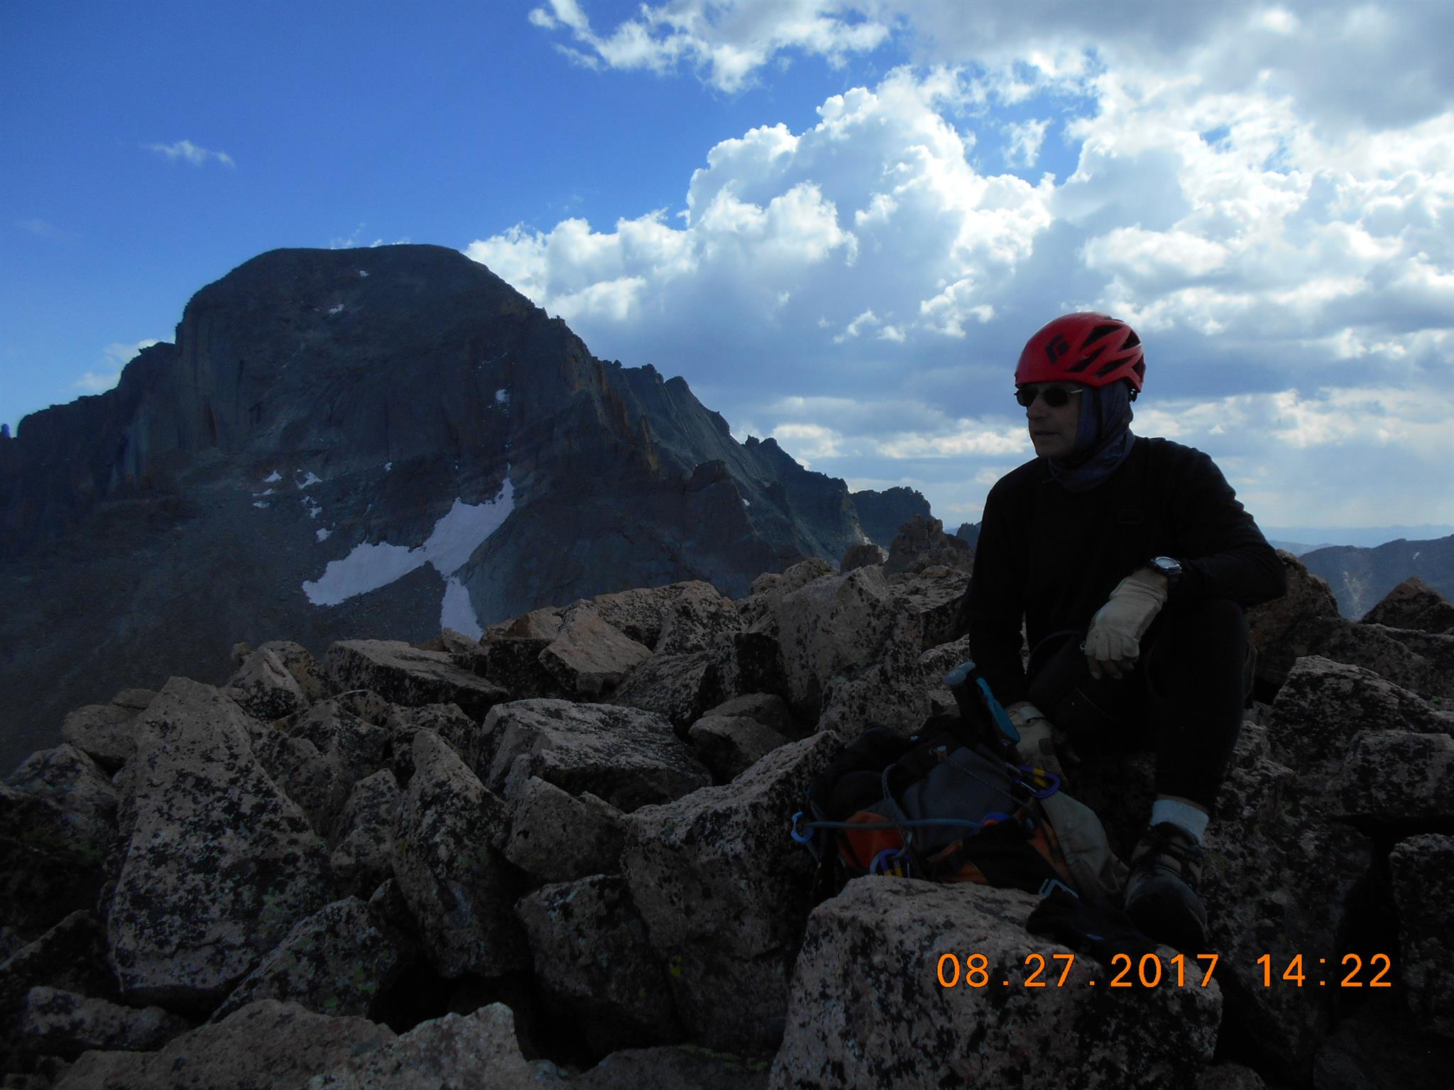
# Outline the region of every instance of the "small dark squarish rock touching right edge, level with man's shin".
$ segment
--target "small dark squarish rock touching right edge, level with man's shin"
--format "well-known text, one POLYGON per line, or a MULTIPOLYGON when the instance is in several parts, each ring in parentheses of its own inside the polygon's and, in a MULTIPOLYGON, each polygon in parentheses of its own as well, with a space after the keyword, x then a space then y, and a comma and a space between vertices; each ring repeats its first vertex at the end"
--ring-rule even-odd
POLYGON ((1390 824, 1454 817, 1454 738, 1407 731, 1354 735, 1343 760, 1342 804, 1349 817, 1390 824))

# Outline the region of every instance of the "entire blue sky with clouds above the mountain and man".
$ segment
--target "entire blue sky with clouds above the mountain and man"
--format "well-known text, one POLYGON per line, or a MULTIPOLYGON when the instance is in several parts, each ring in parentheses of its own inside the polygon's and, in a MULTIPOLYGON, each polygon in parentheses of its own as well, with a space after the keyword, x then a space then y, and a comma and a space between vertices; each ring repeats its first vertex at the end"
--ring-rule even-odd
POLYGON ((1111 7, 9 3, 0 421, 257 253, 427 241, 951 526, 1082 308, 1265 525, 1454 523, 1454 4, 1111 7))

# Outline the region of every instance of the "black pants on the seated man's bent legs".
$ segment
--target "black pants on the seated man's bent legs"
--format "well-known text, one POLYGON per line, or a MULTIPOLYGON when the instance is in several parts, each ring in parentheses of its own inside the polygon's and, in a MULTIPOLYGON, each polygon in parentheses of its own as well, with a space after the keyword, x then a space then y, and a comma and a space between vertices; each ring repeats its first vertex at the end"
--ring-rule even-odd
POLYGON ((1090 677, 1085 632, 1056 632, 1031 653, 1029 699, 1077 748, 1156 750, 1156 794, 1210 812, 1252 692, 1242 606, 1205 599, 1162 609, 1122 680, 1090 677))

